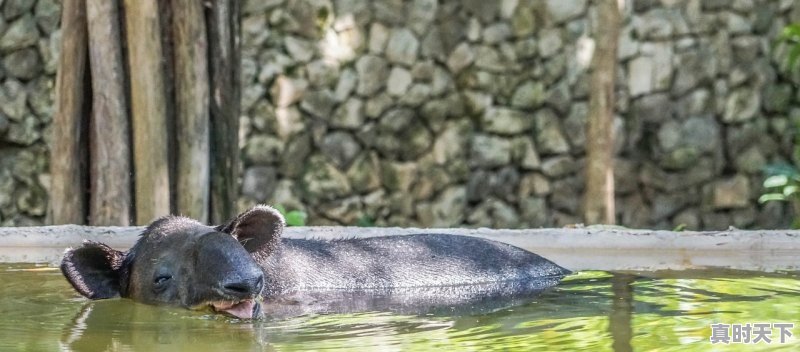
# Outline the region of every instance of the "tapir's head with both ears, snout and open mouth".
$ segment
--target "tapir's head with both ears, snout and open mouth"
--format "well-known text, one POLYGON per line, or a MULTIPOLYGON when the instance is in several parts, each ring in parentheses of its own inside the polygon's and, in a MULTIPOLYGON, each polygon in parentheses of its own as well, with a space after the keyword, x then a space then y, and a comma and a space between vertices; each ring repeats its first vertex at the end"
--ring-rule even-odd
POLYGON ((121 296, 191 309, 212 306, 252 318, 264 288, 257 260, 275 250, 284 226, 283 216, 267 206, 217 227, 168 216, 150 224, 127 252, 97 242, 68 249, 61 271, 90 299, 121 296))

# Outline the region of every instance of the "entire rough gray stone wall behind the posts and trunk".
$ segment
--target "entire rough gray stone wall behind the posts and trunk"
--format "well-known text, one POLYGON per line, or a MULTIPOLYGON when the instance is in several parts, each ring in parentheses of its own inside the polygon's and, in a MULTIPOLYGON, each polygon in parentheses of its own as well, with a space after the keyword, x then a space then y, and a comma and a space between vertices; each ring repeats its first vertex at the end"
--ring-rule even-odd
MULTIPOLYGON (((0 20, 0 220, 44 221, 55 0, 0 20)), ((589 0, 249 0, 242 197, 311 224, 580 222, 589 0)), ((790 160, 796 83, 773 50, 791 0, 629 1, 617 200, 629 227, 783 227, 760 168, 790 160)))

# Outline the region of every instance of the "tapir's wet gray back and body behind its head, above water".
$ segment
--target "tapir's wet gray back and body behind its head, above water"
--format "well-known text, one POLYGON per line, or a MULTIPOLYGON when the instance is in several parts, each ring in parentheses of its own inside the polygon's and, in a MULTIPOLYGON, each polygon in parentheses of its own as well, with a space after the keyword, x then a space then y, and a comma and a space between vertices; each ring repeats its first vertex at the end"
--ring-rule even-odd
POLYGON ((441 234, 336 241, 283 239, 262 263, 265 295, 471 286, 509 294, 558 282, 569 271, 523 249, 441 234))

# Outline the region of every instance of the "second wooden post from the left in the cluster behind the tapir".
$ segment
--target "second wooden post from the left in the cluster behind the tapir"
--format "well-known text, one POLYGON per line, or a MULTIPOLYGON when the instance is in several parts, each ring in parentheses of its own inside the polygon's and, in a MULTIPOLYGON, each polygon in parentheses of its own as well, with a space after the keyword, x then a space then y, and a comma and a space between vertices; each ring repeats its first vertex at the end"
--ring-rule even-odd
POLYGON ((130 130, 116 0, 87 0, 92 69, 89 223, 128 225, 130 130))

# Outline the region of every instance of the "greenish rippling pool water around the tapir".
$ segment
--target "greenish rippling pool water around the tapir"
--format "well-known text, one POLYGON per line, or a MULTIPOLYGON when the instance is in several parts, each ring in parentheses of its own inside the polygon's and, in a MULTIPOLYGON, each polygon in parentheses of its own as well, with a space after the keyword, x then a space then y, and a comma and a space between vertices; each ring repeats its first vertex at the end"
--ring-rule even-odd
MULTIPOLYGON (((0 351, 800 350, 800 275, 581 272, 503 308, 244 322, 125 299, 89 302, 61 273, 0 264, 0 351), (787 344, 711 345, 710 324, 790 322, 787 344)), ((778 330, 772 337, 778 338, 778 330)))

